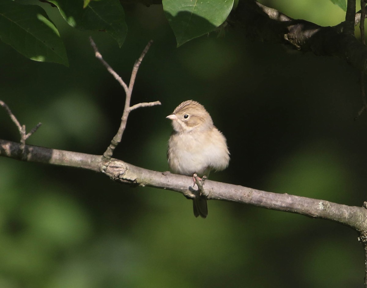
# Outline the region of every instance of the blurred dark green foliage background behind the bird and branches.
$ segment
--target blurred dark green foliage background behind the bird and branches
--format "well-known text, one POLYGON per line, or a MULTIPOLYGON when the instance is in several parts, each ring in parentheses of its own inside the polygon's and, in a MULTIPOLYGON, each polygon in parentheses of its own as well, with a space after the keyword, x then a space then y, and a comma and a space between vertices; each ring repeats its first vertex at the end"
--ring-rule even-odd
MULTIPOLYGON (((330 1, 287 3, 282 11, 294 18, 344 19, 330 1)), ((123 89, 95 59, 88 35, 42 5, 62 32, 70 67, 0 45, 1 100, 28 129, 43 123, 29 144, 101 154, 119 127, 123 89)), ((339 59, 251 42, 239 27, 176 49, 161 6, 124 10, 121 49, 108 35, 92 36, 126 81, 153 39, 132 104, 162 105, 131 113, 115 157, 166 171, 165 116, 195 99, 231 152, 229 168, 211 179, 362 206, 367 115, 353 121, 361 107, 357 71, 339 59)), ((4 111, 0 123, 0 138, 18 141, 4 111)), ((208 218, 196 219, 178 193, 1 157, 0 287, 362 286, 363 249, 352 229, 237 203, 208 205, 208 218)))

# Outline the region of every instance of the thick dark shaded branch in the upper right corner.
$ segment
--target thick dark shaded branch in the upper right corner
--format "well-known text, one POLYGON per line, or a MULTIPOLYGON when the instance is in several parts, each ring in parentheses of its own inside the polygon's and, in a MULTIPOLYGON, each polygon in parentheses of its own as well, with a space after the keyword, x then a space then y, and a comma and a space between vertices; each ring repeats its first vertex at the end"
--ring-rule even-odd
MULTIPOLYGON (((359 19, 360 15, 356 14, 355 25, 359 19)), ((293 19, 254 0, 240 0, 228 21, 244 27, 245 37, 285 44, 316 55, 336 56, 366 71, 367 48, 353 33, 348 33, 350 29, 345 30, 349 22, 323 27, 306 20, 293 19)))

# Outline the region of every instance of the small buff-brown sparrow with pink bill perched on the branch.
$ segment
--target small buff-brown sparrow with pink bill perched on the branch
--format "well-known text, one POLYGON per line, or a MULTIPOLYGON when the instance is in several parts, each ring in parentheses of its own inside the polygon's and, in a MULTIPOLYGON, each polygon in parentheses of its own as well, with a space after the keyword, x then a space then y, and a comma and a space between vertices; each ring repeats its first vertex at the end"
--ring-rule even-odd
MULTIPOLYGON (((229 163, 226 138, 199 102, 188 100, 176 107, 166 118, 172 120, 173 132, 168 141, 168 166, 172 173, 199 177, 211 170, 221 171, 229 163)), ((208 215, 207 199, 193 199, 194 215, 208 215)))

